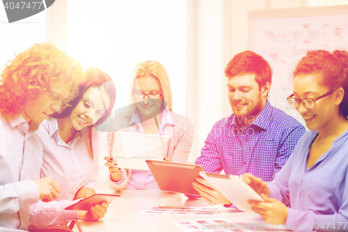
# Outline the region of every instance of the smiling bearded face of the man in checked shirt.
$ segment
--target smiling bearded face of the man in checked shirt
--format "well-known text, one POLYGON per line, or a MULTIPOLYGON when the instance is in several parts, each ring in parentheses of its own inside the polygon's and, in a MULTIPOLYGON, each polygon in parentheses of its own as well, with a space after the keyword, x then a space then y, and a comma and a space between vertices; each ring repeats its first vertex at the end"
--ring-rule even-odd
POLYGON ((267 99, 267 95, 262 94, 264 87, 260 91, 255 75, 229 77, 227 86, 228 100, 230 100, 233 114, 237 117, 253 117, 255 120, 267 99))

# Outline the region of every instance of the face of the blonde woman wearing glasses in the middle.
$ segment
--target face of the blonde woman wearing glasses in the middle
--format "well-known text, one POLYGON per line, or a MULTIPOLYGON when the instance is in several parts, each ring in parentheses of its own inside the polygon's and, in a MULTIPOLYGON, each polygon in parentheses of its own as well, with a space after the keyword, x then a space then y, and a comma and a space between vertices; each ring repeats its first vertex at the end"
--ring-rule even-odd
POLYGON ((161 100, 163 100, 163 96, 158 95, 158 97, 154 98, 154 100, 148 99, 148 96, 145 96, 144 100, 142 93, 162 93, 159 80, 150 76, 138 77, 133 88, 134 102, 138 102, 136 103, 136 107, 139 109, 142 116, 147 116, 147 114, 149 114, 149 116, 154 116, 161 108, 161 104, 163 102, 161 100), (146 112, 146 107, 148 107, 148 113, 146 112))

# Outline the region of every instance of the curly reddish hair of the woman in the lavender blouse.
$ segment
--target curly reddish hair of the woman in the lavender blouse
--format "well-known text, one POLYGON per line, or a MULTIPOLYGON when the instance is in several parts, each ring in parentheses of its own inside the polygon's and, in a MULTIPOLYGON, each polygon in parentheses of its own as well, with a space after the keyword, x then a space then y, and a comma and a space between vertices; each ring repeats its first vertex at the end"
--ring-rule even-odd
POLYGON ((345 95, 340 103, 340 114, 348 116, 348 53, 335 50, 332 54, 325 50, 307 52, 294 70, 297 75, 317 74, 319 82, 331 90, 342 87, 345 95))

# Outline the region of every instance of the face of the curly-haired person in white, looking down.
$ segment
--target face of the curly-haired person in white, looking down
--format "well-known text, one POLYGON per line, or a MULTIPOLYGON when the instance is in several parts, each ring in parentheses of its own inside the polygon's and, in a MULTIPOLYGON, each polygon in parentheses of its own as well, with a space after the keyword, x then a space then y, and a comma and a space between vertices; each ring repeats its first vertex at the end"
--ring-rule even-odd
POLYGON ((22 112, 25 121, 40 124, 54 112, 59 111, 62 100, 68 97, 66 91, 68 86, 68 83, 56 82, 51 85, 49 91, 40 93, 37 98, 26 102, 22 112))

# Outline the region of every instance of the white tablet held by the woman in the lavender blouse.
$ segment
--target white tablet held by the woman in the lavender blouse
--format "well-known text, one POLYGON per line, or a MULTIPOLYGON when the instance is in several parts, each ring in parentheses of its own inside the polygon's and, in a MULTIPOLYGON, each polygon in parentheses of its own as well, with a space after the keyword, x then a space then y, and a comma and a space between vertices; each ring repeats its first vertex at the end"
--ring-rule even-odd
POLYGON ((239 210, 253 211, 248 200, 263 201, 262 197, 255 192, 239 176, 219 175, 216 173, 201 172, 200 176, 205 178, 216 190, 218 190, 228 201, 232 202, 239 210))

